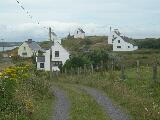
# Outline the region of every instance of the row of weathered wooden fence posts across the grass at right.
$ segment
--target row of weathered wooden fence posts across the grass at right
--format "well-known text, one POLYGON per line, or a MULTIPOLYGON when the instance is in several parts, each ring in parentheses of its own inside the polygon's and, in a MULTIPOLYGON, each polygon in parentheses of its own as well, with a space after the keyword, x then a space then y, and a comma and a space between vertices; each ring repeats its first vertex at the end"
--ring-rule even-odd
MULTIPOLYGON (((77 67, 77 68, 70 68, 70 69, 62 69, 61 74, 67 74, 67 75, 90 75, 95 73, 105 73, 108 72, 112 75, 114 73, 117 73, 119 78, 121 80, 125 79, 135 79, 135 80, 142 80, 142 79, 150 79, 154 82, 158 82, 158 79, 160 78, 160 74, 158 74, 158 64, 157 62, 153 62, 153 64, 141 66, 140 61, 135 61, 134 67, 128 67, 125 63, 119 62, 114 63, 113 61, 108 63, 107 65, 104 65, 103 62, 101 62, 100 65, 94 66, 92 64, 90 65, 84 65, 83 67, 77 67), (114 72, 114 73, 112 73, 114 72)), ((59 73, 56 73, 57 75, 59 73)))

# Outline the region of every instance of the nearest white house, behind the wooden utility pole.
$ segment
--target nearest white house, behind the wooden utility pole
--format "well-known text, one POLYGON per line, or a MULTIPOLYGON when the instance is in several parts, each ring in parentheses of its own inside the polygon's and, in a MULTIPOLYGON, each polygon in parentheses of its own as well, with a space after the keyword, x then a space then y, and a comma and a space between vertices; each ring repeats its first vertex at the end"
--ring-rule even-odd
MULTIPOLYGON (((53 42, 51 42, 52 44, 53 42)), ((43 56, 36 58, 37 69, 45 71, 59 71, 58 66, 64 65, 69 59, 69 52, 56 41, 52 47, 45 51, 43 56)))

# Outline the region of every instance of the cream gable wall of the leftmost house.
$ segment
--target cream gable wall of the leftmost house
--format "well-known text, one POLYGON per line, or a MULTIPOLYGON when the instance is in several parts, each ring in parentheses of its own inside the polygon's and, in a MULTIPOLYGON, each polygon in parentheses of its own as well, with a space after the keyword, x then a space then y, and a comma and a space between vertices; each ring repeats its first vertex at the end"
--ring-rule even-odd
POLYGON ((18 49, 18 55, 21 57, 32 57, 33 52, 29 48, 28 44, 26 42, 24 42, 18 49), (25 47, 25 49, 24 49, 24 47, 25 47), (22 53, 27 53, 27 55, 24 56, 22 53))

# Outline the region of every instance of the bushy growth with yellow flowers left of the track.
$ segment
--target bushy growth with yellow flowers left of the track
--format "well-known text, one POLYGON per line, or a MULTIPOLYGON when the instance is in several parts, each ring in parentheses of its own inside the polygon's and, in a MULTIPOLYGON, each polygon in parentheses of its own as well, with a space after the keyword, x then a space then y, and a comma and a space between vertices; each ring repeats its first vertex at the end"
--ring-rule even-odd
POLYGON ((49 82, 44 81, 47 74, 40 77, 31 66, 11 67, 0 73, 0 120, 32 119, 35 101, 49 97, 49 82))

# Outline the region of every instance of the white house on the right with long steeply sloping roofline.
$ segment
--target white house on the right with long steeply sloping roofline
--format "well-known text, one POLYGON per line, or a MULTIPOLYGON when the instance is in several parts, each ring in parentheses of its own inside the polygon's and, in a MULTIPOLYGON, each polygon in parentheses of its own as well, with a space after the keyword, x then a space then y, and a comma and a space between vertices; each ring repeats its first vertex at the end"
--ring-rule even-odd
POLYGON ((113 51, 134 51, 138 49, 138 46, 134 46, 134 43, 131 43, 131 40, 122 35, 118 29, 113 31, 110 29, 108 44, 113 45, 113 51))

